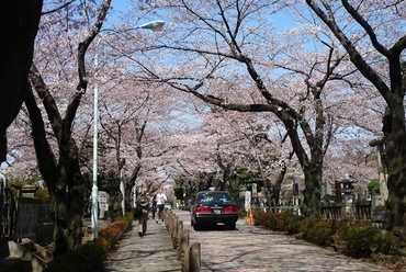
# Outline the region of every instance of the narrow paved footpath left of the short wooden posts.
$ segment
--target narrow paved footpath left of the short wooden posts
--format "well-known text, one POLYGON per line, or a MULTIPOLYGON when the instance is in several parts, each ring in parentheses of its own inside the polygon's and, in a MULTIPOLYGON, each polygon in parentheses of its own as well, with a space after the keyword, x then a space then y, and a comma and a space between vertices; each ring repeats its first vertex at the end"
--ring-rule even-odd
POLYGON ((177 250, 172 248, 170 234, 165 223, 148 220, 147 233, 138 236, 138 220, 133 222, 133 229, 120 241, 116 251, 105 262, 104 272, 170 272, 180 271, 177 250))

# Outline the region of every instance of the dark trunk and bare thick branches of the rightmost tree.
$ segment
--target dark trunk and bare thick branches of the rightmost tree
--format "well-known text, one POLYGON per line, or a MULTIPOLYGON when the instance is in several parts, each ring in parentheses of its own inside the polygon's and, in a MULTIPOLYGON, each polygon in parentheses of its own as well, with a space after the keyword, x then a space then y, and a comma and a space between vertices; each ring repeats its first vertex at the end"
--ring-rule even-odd
MULTIPOLYGON (((346 48, 352 64, 360 70, 380 92, 387 103, 387 109, 383 118, 383 140, 385 145, 385 163, 387 167, 388 180, 388 226, 394 234, 406 238, 406 127, 405 127, 405 80, 402 69, 402 53, 406 48, 406 35, 397 39, 392 48, 386 48, 377 41, 374 29, 365 21, 357 9, 351 7, 347 0, 342 0, 342 7, 356 20, 360 27, 365 32, 376 53, 386 58, 388 63, 390 86, 384 78, 377 73, 364 59, 364 56, 357 49, 353 41, 336 24, 335 12, 328 5, 322 10, 316 1, 306 0, 315 14, 326 24, 331 33, 346 48)), ((395 27, 395 26, 394 26, 395 27)))

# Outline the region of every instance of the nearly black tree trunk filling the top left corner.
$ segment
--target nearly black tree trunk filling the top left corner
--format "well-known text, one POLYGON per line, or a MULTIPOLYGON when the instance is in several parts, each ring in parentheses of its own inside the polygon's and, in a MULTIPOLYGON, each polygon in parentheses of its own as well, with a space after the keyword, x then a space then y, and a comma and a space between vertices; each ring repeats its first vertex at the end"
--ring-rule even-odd
POLYGON ((42 0, 4 0, 0 9, 0 162, 5 160, 7 127, 25 98, 42 0))

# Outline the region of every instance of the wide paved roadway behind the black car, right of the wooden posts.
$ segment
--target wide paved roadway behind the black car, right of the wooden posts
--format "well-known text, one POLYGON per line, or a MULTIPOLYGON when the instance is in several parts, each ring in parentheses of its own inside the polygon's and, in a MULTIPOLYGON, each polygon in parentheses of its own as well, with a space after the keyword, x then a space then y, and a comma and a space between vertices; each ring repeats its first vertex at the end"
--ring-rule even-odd
POLYGON ((201 271, 391 271, 345 257, 303 240, 237 222, 236 230, 224 226, 193 230, 188 212, 176 211, 190 228, 190 242, 201 243, 201 271))

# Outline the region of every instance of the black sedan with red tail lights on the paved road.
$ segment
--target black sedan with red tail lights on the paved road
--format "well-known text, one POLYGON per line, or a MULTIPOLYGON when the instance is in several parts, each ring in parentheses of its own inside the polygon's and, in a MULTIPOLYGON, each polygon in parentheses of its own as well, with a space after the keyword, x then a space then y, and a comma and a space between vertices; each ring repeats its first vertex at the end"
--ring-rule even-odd
POLYGON ((194 230, 199 230, 201 226, 215 226, 218 223, 235 229, 238 220, 238 207, 226 191, 199 192, 191 214, 194 230))

